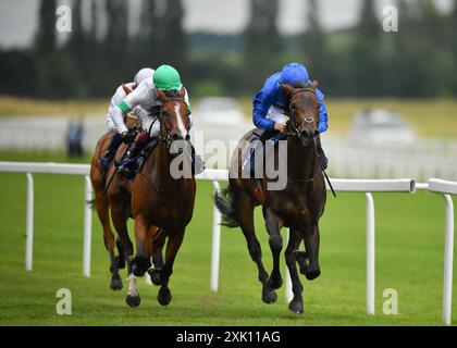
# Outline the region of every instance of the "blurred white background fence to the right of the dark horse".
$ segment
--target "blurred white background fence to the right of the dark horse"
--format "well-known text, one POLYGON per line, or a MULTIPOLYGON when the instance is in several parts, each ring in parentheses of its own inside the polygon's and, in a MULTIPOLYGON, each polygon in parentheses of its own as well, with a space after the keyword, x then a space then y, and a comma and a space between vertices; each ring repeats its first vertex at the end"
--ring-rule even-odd
POLYGON ((457 141, 419 138, 412 144, 356 142, 322 137, 335 177, 441 177, 457 181, 457 141))

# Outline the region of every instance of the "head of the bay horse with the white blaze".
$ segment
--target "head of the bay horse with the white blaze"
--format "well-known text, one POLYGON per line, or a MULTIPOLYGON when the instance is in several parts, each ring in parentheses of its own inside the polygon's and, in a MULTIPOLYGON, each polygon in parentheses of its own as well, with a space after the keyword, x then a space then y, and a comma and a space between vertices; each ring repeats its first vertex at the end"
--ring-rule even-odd
POLYGON ((190 110, 184 100, 186 89, 163 91, 157 89, 162 108, 160 111, 160 134, 169 146, 174 140, 189 140, 190 110))

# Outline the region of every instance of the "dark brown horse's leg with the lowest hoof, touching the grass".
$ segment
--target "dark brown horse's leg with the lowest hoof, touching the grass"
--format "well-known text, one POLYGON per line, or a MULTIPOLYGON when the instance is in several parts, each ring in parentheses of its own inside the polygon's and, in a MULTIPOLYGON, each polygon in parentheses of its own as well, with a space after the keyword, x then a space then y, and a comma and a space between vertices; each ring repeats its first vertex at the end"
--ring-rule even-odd
POLYGON ((288 272, 291 274, 292 290, 294 293, 294 298, 292 299, 291 303, 288 303, 288 309, 292 312, 297 313, 297 314, 301 314, 304 312, 304 300, 301 296, 304 287, 298 277, 297 264, 295 262, 296 259, 295 259, 295 253, 294 253, 294 250, 298 249, 300 240, 301 240, 301 236, 299 232, 291 228, 288 245, 285 251, 285 260, 286 260, 288 272))

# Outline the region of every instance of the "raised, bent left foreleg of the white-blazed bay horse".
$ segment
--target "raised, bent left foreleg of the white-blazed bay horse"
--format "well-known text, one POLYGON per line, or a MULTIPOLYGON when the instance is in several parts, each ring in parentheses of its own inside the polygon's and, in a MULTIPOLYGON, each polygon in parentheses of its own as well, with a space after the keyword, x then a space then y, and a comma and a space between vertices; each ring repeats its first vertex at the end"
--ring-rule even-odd
POLYGON ((151 266, 152 236, 156 232, 157 227, 150 225, 144 215, 135 216, 136 253, 132 260, 132 269, 136 276, 145 275, 151 266))

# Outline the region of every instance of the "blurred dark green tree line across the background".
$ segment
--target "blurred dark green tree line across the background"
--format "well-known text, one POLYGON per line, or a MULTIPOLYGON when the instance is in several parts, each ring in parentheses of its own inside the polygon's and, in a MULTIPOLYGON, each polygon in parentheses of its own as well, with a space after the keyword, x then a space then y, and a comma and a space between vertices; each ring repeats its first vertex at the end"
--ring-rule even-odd
POLYGON ((398 33, 383 32, 374 0, 361 1, 356 26, 336 32, 321 26, 318 0, 304 0, 306 30, 294 36, 279 33, 279 0, 249 1, 244 33, 217 36, 185 33, 182 0, 143 0, 140 30, 131 36, 128 1, 73 0, 71 37, 59 45, 57 0, 42 0, 33 47, 0 51, 0 92, 106 97, 138 69, 166 63, 181 71, 193 96, 250 96, 284 63, 300 61, 331 96, 457 96, 457 0, 448 14, 433 0, 398 0, 398 33))

